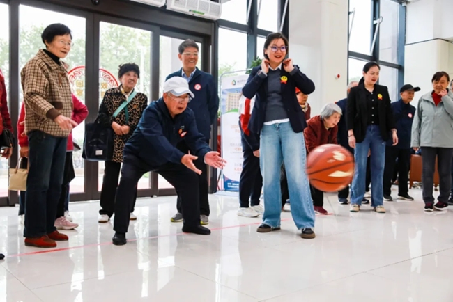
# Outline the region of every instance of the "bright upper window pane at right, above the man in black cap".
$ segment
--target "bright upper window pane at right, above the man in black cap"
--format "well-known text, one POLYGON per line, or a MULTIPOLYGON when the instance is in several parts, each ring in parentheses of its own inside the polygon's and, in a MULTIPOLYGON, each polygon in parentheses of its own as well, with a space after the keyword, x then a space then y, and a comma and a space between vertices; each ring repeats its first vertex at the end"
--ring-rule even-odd
POLYGON ((379 28, 379 60, 398 63, 399 3, 391 0, 381 1, 379 28))

